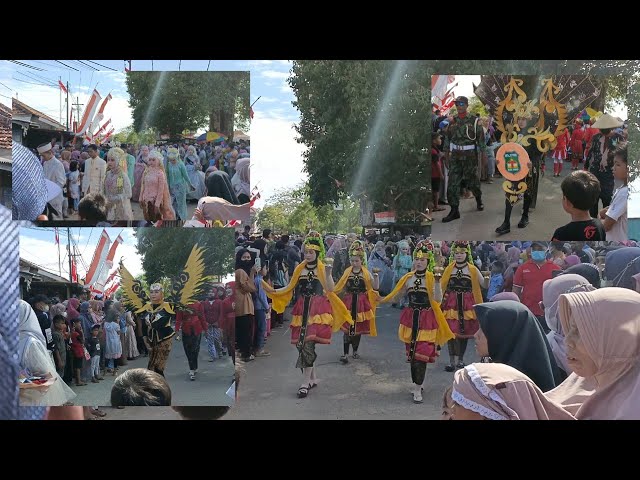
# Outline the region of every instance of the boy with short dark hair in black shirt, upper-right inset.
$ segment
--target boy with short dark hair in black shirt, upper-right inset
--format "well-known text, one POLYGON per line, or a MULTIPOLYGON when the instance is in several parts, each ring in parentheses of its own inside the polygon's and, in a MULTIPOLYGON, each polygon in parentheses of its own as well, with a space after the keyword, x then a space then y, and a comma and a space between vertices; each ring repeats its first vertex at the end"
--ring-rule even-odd
POLYGON ((600 182, 587 171, 574 171, 560 184, 562 207, 571 215, 571 222, 553 232, 552 241, 605 240, 600 220, 591 218, 589 209, 600 198, 600 182))

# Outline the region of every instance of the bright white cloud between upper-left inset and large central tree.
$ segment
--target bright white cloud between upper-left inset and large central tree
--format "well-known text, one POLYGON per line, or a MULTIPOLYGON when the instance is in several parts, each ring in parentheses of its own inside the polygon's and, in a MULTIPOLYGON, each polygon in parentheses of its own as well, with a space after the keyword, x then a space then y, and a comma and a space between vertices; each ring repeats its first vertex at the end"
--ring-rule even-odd
POLYGON ((303 182, 307 175, 302 171, 302 154, 306 147, 296 142, 294 122, 284 118, 268 118, 256 112, 251 122, 251 146, 256 152, 251 164, 251 184, 257 185, 261 198, 256 207, 264 206, 276 190, 289 188, 303 182))

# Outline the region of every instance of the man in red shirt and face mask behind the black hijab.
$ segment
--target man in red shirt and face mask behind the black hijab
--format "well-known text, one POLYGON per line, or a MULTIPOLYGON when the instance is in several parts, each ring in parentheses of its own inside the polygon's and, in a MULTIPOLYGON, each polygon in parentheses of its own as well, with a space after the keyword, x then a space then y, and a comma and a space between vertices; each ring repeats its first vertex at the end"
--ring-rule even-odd
POLYGON ((553 277, 554 270, 560 270, 558 265, 547 260, 546 251, 547 244, 545 242, 533 242, 529 260, 518 267, 513 277, 513 292, 536 316, 545 334, 550 330, 544 319, 544 311, 540 308, 542 285, 545 280, 553 277))

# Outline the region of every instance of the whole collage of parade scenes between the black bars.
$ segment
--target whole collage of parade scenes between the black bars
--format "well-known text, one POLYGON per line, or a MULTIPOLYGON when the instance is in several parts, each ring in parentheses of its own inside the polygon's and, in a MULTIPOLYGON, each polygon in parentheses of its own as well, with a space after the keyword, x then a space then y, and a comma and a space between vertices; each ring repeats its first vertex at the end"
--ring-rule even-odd
POLYGON ((640 420, 640 61, 491 65, 0 61, 0 419, 640 420))

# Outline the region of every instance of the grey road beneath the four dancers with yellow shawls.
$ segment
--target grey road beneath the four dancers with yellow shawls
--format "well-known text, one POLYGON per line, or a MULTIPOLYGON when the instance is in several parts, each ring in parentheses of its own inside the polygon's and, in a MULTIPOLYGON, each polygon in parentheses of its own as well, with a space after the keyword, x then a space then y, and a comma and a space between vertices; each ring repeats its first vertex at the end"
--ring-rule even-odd
MULTIPOLYGON (((398 339, 400 310, 389 305, 378 308, 378 336, 365 337, 361 358, 342 365, 342 333, 331 345, 319 345, 317 367, 321 383, 307 398, 296 393, 302 374, 294 368, 297 350, 289 343, 289 329, 273 330, 267 342, 270 357, 247 363, 240 382, 238 400, 225 419, 439 419, 442 393, 453 374, 446 346, 438 362, 427 369, 424 403, 414 404, 411 376, 404 345, 398 339)), ((288 323, 285 323, 288 326, 288 323)), ((473 341, 465 361, 478 361, 473 341)))

